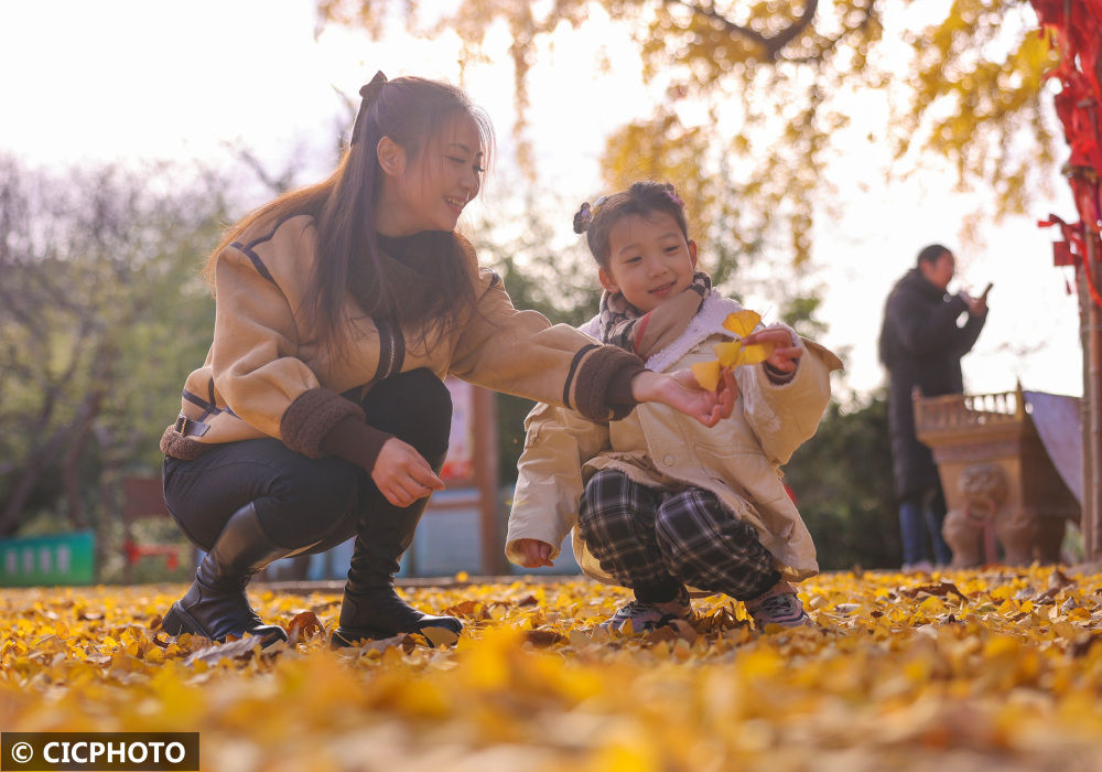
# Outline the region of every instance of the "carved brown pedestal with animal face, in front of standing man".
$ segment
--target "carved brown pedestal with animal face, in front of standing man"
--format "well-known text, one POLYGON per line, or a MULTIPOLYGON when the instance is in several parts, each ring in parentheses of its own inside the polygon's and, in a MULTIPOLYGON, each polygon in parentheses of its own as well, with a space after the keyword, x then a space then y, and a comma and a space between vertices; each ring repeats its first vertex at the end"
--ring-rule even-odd
POLYGON ((996 562, 998 546, 1006 564, 1058 562, 1079 502, 1045 452, 1020 387, 914 399, 915 430, 933 451, 946 493, 953 567, 996 562))

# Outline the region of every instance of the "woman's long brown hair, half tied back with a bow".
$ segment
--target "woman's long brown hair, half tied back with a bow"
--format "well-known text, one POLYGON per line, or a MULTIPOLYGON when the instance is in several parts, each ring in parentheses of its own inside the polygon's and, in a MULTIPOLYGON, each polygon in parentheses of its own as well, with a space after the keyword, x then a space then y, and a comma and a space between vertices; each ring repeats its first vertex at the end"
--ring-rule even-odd
POLYGON ((457 117, 474 120, 488 157, 493 128, 486 115, 461 89, 419 77, 386 81, 381 73, 360 90, 364 103, 353 141, 336 171, 323 182, 289 191, 233 225, 207 258, 204 275, 214 280, 219 253, 258 222, 277 222, 292 214, 312 215, 317 233, 317 259, 306 288, 306 311, 315 320, 321 344, 339 353, 347 345, 345 293, 363 311, 391 324, 421 325, 430 332, 460 324, 473 305, 472 257, 456 234, 426 233, 410 246, 411 269, 379 248, 375 205, 382 184, 376 147, 382 137, 399 144, 413 161, 425 152, 457 117), (433 254, 420 255, 431 250, 433 254), (430 268, 430 270, 425 270, 430 268), (415 291, 411 287, 415 282, 415 291))

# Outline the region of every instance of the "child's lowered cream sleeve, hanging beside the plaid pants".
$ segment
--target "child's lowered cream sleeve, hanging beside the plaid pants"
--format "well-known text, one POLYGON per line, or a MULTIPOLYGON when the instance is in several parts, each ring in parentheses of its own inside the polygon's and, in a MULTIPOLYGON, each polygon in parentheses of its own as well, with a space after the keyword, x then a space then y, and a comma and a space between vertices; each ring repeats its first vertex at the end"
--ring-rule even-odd
POLYGON ((551 545, 551 559, 577 522, 582 465, 608 447, 608 425, 552 405, 537 405, 525 419, 525 451, 509 513, 505 555, 519 565, 517 539, 551 545))

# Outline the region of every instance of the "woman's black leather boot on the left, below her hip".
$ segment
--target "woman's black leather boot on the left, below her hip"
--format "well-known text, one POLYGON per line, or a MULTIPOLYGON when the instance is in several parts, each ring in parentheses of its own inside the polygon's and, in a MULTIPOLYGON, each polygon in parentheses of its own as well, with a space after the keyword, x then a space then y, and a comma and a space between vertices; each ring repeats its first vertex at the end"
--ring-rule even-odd
POLYGON ((298 551, 303 550, 273 544, 260 527, 256 507, 246 504, 227 521, 195 571, 195 581, 172 604, 161 629, 170 635, 191 633, 219 642, 249 633, 260 637, 263 646, 287 641, 283 628, 260 621, 245 586, 268 564, 298 551))

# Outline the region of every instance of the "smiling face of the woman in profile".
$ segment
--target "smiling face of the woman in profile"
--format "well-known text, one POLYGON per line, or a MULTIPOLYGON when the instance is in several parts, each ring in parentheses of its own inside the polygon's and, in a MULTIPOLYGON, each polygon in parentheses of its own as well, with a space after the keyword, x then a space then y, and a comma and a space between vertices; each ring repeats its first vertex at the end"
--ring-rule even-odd
POLYGON ((429 138, 417 158, 401 151, 401 169, 388 175, 395 205, 380 233, 407 236, 422 230, 454 230, 482 186, 483 149, 478 127, 468 115, 456 115, 429 138))

